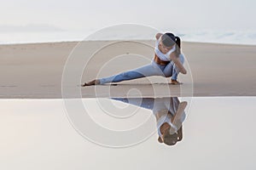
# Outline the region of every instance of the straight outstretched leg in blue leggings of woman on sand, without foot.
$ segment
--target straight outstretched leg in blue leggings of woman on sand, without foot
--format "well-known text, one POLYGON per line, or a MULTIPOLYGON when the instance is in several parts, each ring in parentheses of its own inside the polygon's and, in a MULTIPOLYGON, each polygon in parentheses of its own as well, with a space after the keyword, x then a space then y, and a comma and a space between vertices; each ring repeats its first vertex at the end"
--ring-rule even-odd
POLYGON ((163 75, 163 73, 160 70, 160 68, 152 64, 149 64, 149 65, 144 65, 142 67, 139 67, 135 70, 125 71, 125 72, 119 73, 118 75, 101 78, 99 80, 101 84, 105 84, 108 82, 122 82, 126 80, 142 78, 142 77, 161 76, 161 75, 163 75))

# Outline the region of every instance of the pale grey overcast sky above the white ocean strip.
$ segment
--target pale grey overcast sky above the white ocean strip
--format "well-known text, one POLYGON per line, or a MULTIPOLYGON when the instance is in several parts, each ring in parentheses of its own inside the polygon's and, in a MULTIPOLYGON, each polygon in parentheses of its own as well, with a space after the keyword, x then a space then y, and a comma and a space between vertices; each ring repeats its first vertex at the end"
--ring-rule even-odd
POLYGON ((136 23, 160 30, 254 31, 254 0, 1 0, 0 31, 95 31, 136 23))

